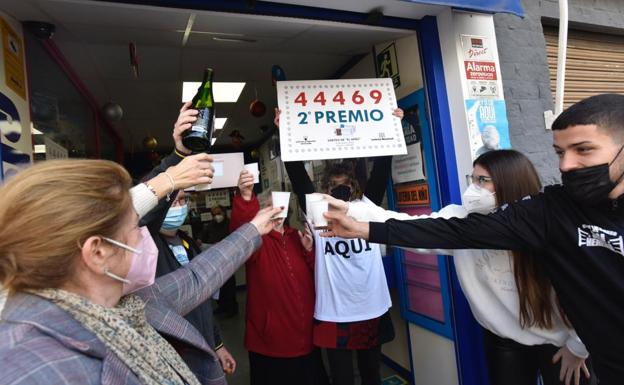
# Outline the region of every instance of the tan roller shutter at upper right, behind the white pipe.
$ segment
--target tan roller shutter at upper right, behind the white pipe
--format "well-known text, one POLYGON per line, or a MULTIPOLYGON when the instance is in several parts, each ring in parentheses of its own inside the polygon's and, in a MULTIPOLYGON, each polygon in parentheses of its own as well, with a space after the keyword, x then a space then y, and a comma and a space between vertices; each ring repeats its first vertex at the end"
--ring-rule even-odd
MULTIPOLYGON (((544 26, 544 37, 554 99, 558 29, 544 26)), ((602 93, 624 94, 624 37, 569 31, 564 108, 602 93)))

